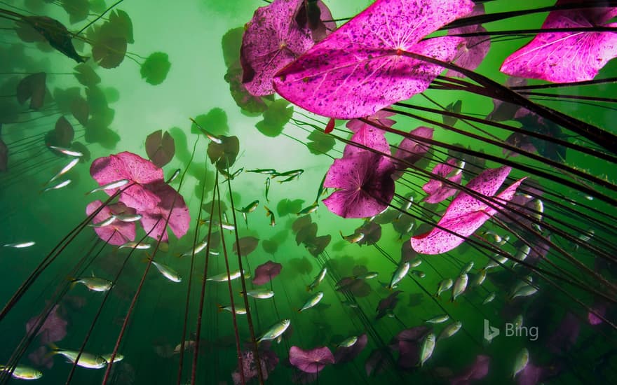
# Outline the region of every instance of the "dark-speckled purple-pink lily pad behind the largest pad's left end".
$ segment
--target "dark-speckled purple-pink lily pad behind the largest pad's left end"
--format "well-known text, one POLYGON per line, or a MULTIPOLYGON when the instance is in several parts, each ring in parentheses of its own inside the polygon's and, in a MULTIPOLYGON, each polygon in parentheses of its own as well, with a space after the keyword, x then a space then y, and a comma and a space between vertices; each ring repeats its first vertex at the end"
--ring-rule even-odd
POLYGON ((295 20, 303 0, 275 0, 257 8, 245 28, 240 48, 243 83, 255 96, 273 94, 272 76, 311 48, 313 38, 308 28, 295 20))

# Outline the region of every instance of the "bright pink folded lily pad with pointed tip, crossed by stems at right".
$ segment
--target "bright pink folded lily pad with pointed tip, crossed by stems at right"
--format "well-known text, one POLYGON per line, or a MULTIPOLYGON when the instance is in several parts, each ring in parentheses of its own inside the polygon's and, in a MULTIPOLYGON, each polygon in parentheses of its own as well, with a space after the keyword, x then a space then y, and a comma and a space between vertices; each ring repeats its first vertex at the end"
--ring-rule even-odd
MULTIPOLYGON (((487 169, 467 183, 467 188, 482 195, 484 200, 493 197, 510 173, 510 167, 487 169)), ((503 206, 512 199, 516 189, 524 181, 520 179, 494 197, 492 204, 503 206)), ((467 237, 480 228, 496 210, 476 197, 461 191, 450 203, 438 227, 430 232, 412 237, 412 248, 418 253, 441 254, 462 244, 467 237), (442 228, 447 230, 442 230, 442 228), (453 234, 454 232, 454 234, 453 234)))

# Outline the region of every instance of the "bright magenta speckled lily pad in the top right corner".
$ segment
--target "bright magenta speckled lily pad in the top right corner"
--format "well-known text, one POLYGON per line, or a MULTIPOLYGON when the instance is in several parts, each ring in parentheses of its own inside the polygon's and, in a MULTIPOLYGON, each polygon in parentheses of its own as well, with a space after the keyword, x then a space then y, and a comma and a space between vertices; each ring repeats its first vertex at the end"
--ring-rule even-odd
MULTIPOLYGON (((572 0, 557 1, 557 5, 572 0)), ((617 15, 617 8, 555 10, 542 29, 616 27, 603 23, 617 15)), ((538 34, 523 48, 508 56, 501 72, 512 76, 571 83, 592 80, 610 59, 617 57, 617 34, 613 32, 547 32, 538 34)))

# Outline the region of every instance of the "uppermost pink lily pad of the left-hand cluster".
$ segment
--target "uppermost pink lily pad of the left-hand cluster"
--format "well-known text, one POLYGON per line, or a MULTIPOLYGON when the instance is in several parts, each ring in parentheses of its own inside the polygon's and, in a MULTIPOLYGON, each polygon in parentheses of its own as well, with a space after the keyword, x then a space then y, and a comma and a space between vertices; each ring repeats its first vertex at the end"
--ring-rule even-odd
MULTIPOLYGON (((109 155, 105 158, 98 158, 90 165, 90 175, 99 183, 100 186, 108 183, 128 179, 135 186, 126 188, 120 195, 120 202, 133 209, 147 210, 154 208, 160 198, 152 193, 143 185, 163 181, 163 169, 156 167, 154 163, 145 160, 139 155, 129 152, 109 155)), ((116 193, 116 188, 105 190, 107 195, 116 193)))

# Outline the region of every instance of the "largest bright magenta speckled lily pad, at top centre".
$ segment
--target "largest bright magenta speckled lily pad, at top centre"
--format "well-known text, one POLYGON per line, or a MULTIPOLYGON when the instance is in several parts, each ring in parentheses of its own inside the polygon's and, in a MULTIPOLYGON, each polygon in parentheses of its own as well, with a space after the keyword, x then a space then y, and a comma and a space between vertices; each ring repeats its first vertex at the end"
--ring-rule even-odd
POLYGON ((420 40, 472 9, 468 0, 377 0, 276 73, 274 89, 323 116, 370 116, 426 90, 442 67, 402 52, 451 60, 462 38, 420 40))

